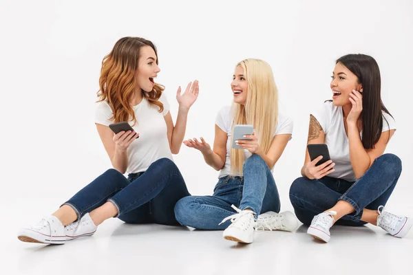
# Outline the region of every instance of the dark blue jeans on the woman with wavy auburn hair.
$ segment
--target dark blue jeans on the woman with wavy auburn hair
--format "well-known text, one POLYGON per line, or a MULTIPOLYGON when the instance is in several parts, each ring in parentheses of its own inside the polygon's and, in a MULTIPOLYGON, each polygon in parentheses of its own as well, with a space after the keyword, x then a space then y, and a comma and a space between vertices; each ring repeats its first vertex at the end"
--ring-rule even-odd
POLYGON ((129 174, 128 179, 109 169, 63 204, 71 206, 78 219, 111 201, 118 208, 116 217, 126 223, 179 225, 173 208, 186 196, 190 194, 178 167, 162 158, 145 172, 129 174))

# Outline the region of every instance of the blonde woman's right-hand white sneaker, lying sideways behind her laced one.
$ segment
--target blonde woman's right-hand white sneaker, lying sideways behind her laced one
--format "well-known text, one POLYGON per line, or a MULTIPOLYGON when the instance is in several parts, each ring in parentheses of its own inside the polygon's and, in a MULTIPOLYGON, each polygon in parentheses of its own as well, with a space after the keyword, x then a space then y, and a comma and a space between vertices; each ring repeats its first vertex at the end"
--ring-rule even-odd
POLYGON ((292 212, 276 213, 268 211, 258 216, 255 230, 283 230, 293 232, 297 227, 298 221, 292 212))

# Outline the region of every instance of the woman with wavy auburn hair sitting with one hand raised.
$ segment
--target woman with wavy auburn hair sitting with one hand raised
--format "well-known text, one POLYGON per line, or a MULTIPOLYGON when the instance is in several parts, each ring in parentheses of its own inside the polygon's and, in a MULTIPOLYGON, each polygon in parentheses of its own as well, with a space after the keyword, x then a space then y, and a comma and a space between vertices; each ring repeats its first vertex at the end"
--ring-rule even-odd
POLYGON ((164 87, 156 84, 160 68, 151 41, 124 37, 103 58, 95 123, 113 169, 87 184, 53 214, 18 238, 30 243, 64 244, 91 236, 100 223, 118 217, 126 223, 179 225, 173 207, 189 196, 172 153, 180 151, 189 108, 198 98, 198 81, 176 95, 173 125, 164 87), (114 135, 109 124, 129 122, 134 131, 114 135), (139 137, 139 138, 137 138, 139 137), (127 172, 128 178, 123 174, 127 172))

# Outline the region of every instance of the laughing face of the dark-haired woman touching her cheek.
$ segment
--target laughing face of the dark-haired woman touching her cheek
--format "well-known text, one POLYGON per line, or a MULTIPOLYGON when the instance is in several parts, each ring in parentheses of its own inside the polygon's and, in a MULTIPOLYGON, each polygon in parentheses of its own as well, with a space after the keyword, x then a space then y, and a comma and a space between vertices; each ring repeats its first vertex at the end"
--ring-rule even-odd
POLYGON ((351 104, 349 98, 352 90, 363 91, 357 76, 341 63, 337 63, 331 78, 332 104, 335 106, 351 104))

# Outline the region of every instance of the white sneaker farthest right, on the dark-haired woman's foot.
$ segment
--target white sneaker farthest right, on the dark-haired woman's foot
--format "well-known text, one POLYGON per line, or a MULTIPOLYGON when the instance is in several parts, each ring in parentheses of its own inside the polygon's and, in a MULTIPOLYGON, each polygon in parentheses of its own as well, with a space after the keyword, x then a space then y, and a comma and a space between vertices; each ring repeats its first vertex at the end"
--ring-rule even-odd
POLYGON ((390 212, 384 211, 384 206, 379 206, 377 210, 379 217, 377 217, 377 226, 383 228, 392 236, 403 238, 407 235, 410 228, 412 228, 413 220, 407 217, 396 216, 390 212), (380 208, 382 208, 380 210, 380 208))

